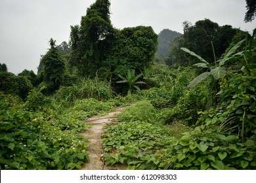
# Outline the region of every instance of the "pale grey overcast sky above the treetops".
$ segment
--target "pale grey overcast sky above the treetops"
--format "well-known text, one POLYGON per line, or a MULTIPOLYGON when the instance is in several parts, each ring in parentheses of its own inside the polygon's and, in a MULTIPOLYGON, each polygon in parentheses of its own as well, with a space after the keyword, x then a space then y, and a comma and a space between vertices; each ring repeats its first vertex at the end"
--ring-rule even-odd
MULTIPOLYGON (((70 25, 96 0, 0 0, 0 63, 9 72, 24 69, 37 73, 40 55, 57 44, 69 41, 70 25)), ((182 22, 194 24, 209 18, 219 25, 252 31, 256 21, 244 22, 245 0, 111 0, 114 27, 150 25, 156 33, 171 29, 182 33, 182 22)))

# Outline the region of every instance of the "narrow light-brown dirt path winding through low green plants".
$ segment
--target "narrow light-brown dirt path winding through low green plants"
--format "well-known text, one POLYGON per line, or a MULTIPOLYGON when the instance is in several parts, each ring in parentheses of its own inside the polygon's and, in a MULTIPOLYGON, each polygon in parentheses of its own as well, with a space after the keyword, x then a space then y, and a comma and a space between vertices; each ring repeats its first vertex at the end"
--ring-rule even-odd
POLYGON ((104 152, 102 149, 101 135, 103 127, 105 125, 116 125, 113 119, 116 118, 116 114, 120 113, 123 108, 116 108, 114 112, 110 112, 106 116, 93 116, 85 121, 86 124, 91 124, 92 127, 87 129, 81 135, 85 135, 89 141, 89 162, 83 165, 82 170, 109 170, 109 169, 126 169, 126 166, 106 167, 104 165, 104 152))

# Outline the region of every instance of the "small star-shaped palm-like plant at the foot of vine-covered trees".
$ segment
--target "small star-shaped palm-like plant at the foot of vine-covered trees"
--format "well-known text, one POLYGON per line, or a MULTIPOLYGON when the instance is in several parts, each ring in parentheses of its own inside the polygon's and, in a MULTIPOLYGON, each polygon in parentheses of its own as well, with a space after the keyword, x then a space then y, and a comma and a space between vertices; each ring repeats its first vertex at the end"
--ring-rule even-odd
POLYGON ((127 75, 122 76, 122 75, 118 75, 121 79, 123 80, 119 80, 117 81, 117 83, 125 83, 127 82, 128 84, 128 92, 127 92, 127 95, 130 95, 131 92, 133 91, 133 88, 136 88, 137 90, 140 90, 139 86, 137 86, 136 84, 146 84, 145 82, 142 82, 142 81, 137 81, 140 76, 142 76, 143 74, 140 73, 139 75, 135 75, 135 69, 128 69, 127 71, 127 75))

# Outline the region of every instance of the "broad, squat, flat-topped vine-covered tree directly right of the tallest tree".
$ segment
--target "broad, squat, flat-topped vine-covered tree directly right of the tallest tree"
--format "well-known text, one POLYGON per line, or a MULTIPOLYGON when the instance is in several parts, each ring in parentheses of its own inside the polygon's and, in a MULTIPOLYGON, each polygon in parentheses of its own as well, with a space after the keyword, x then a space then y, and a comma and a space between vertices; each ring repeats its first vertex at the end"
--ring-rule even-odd
POLYGON ((100 69, 102 77, 110 75, 117 81, 117 75, 125 75, 128 69, 139 73, 148 68, 156 53, 158 35, 152 27, 137 26, 116 30, 117 38, 112 42, 110 52, 100 69))

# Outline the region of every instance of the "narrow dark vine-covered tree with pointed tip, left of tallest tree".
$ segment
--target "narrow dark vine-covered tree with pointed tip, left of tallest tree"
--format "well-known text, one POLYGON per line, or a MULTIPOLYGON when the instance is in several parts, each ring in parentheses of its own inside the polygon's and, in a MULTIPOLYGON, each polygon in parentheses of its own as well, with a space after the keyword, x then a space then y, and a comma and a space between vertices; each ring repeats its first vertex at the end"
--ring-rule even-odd
POLYGON ((56 41, 51 39, 49 42, 51 48, 43 56, 41 62, 43 64, 43 81, 47 83, 49 92, 51 93, 60 87, 65 72, 65 65, 60 52, 55 46, 56 41))

